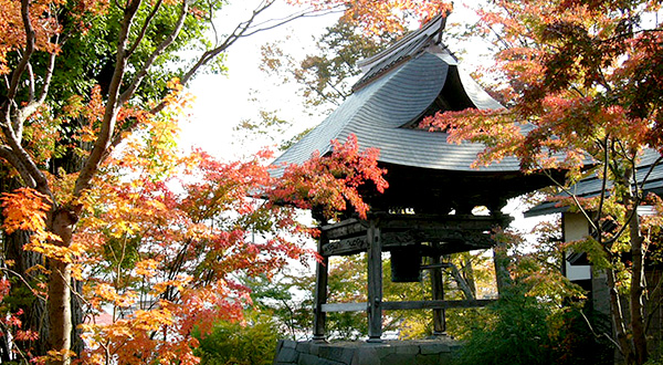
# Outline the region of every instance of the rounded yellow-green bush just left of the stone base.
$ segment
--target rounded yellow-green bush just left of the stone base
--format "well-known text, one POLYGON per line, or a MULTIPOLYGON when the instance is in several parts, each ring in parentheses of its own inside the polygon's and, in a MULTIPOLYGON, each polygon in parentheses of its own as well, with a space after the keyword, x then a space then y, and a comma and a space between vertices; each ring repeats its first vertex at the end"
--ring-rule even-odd
POLYGON ((246 323, 220 321, 208 334, 193 335, 200 342, 194 350, 201 365, 270 365, 281 336, 272 315, 246 313, 246 323))

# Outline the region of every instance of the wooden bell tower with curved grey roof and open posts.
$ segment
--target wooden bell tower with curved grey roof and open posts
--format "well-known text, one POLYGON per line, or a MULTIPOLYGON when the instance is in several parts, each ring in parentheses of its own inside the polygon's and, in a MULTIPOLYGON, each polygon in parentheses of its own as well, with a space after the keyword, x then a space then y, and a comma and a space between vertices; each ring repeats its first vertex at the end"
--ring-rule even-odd
POLYGON ((385 194, 365 198, 370 205, 367 219, 348 216, 320 222, 318 253, 324 260, 316 269, 314 340, 327 335, 326 313, 341 311, 368 313, 369 342, 382 341, 382 313, 390 310, 433 310, 434 333, 443 334, 444 310, 490 302, 444 299, 442 270, 450 268, 444 255, 493 248, 492 230, 511 222, 501 211, 507 199, 549 185, 543 175, 523 174, 515 158, 473 167, 482 145, 448 143, 444 132, 418 128, 424 117, 440 111, 503 107, 441 42, 445 20, 439 15, 361 61, 364 74, 354 93, 273 163, 278 166, 274 175, 280 175, 284 166, 301 164, 315 150, 330 153, 332 139, 344 142, 354 134, 360 149, 380 150, 379 165, 388 171, 385 194), (477 207, 484 213, 474 215, 477 207), (386 251, 391 253, 393 281, 418 281, 422 270, 430 270, 431 300, 382 300, 386 251), (368 253, 368 302, 328 303, 328 259, 360 252, 368 253))

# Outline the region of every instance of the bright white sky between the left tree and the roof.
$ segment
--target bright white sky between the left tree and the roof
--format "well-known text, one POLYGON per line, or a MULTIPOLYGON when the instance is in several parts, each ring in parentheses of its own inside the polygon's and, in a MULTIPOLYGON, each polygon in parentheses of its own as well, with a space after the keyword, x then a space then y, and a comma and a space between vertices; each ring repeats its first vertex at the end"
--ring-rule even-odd
MULTIPOLYGON (((251 11, 251 4, 255 2, 235 1, 225 17, 219 19, 220 27, 234 27, 238 19, 246 19, 246 11, 251 11)), ((292 10, 282 6, 269 11, 284 15, 292 10)), ((227 75, 202 74, 190 84, 189 92, 196 96, 196 103, 192 121, 181 125, 181 146, 197 146, 218 158, 235 159, 269 144, 269 140, 259 140, 249 146, 241 145, 232 131, 242 119, 254 117, 259 105, 250 101, 252 91, 260 91, 259 95, 253 95, 260 98, 260 107, 277 109, 281 118, 297 123, 293 135, 322 122, 311 121, 295 85, 275 85, 275 80, 259 70, 260 49, 265 43, 284 41, 284 51, 303 56, 313 51, 314 36, 322 34, 325 27, 333 25, 337 18, 298 19, 278 29, 240 39, 231 45, 225 61, 227 75)))

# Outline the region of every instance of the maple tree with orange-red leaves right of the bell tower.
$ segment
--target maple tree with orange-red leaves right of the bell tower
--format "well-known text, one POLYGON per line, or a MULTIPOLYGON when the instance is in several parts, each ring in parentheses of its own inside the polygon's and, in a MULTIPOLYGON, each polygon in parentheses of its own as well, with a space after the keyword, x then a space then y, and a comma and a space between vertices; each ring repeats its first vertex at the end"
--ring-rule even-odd
MULTIPOLYGON (((478 11, 481 30, 498 49, 494 91, 506 108, 445 113, 422 127, 446 131, 452 140, 484 143, 477 165, 516 156, 527 171, 568 171, 568 181, 556 182, 592 230, 575 247, 606 270, 615 344, 627 363, 643 364, 652 348, 644 269, 656 244, 638 206, 655 205, 657 197, 643 191, 649 173, 638 171, 638 164, 646 148, 663 150, 660 3, 497 0, 491 6, 478 11), (602 181, 601 189, 578 199, 568 184, 590 174, 602 181)), ((652 168, 662 160, 654 159, 652 168)))

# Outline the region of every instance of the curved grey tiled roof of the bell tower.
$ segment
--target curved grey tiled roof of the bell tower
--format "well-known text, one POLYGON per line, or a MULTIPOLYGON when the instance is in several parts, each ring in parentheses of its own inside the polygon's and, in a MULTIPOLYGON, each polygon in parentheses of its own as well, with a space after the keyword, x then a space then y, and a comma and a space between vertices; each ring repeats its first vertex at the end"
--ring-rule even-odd
POLYGON ((332 139, 357 136, 360 149, 376 147, 379 161, 436 170, 518 171, 515 158, 478 169, 472 164, 480 144, 448 143, 448 134, 413 128, 424 115, 467 107, 503 107, 464 72, 453 54, 440 43, 444 18, 438 17, 390 49, 361 61, 365 73, 354 93, 323 123, 294 144, 274 163, 301 164, 313 152, 330 153, 332 139))

